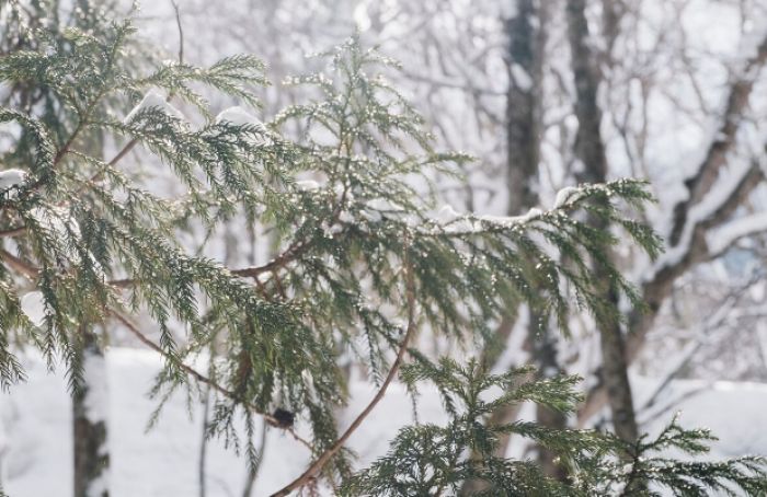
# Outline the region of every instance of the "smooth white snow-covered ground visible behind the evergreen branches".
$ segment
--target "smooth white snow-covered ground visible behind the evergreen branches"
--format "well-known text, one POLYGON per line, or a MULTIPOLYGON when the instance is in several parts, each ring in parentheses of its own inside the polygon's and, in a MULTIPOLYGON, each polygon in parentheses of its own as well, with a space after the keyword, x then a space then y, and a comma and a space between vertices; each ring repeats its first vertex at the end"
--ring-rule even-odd
MULTIPOLYGON (((202 412, 183 395, 164 408, 159 424, 146 431, 154 406, 147 397, 160 361, 152 352, 113 348, 107 354, 110 385, 110 450, 113 497, 196 496, 198 489, 202 412)), ((26 361, 30 379, 0 394, 0 481, 11 497, 71 495, 71 409, 66 381, 49 374, 39 360, 26 361)), ((655 382, 637 378, 638 404, 655 382)), ((351 421, 373 395, 369 385, 354 382, 353 402, 342 425, 351 421)), ((659 400, 663 406, 683 398, 674 411, 683 424, 711 428, 721 440, 712 456, 767 454, 767 384, 676 382, 659 400), (698 392, 688 395, 690 392, 698 392)), ((417 401, 420 420, 444 419, 435 392, 423 389, 417 401)), ((652 409, 648 411, 648 416, 652 409)), ((651 431, 668 413, 650 424, 651 431)), ((413 419, 412 401, 393 384, 367 423, 352 437, 351 447, 365 464, 381 454, 397 429, 413 419)), ((207 449, 207 497, 242 495, 245 462, 220 441, 207 449)), ((268 495, 298 475, 308 462, 306 449, 278 430, 270 430, 265 458, 253 495, 268 495)))

